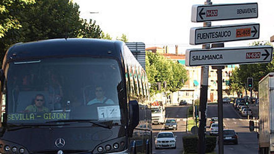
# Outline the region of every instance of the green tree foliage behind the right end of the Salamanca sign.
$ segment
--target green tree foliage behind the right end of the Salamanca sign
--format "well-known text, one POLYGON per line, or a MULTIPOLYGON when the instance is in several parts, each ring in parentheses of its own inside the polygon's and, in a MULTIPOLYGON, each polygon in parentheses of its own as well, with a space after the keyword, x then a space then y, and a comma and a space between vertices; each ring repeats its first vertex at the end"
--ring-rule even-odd
MULTIPOLYGON (((269 42, 253 42, 250 44, 256 45, 272 45, 269 42)), ((253 90, 258 91, 258 83, 262 77, 266 76, 269 72, 274 71, 274 60, 272 58, 271 63, 257 63, 257 64, 245 64, 239 65, 232 72, 230 77, 231 85, 230 90, 233 92, 239 92, 246 88, 246 82, 248 77, 253 77, 253 90)))

